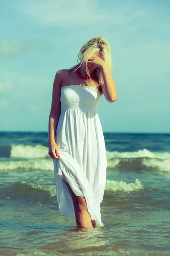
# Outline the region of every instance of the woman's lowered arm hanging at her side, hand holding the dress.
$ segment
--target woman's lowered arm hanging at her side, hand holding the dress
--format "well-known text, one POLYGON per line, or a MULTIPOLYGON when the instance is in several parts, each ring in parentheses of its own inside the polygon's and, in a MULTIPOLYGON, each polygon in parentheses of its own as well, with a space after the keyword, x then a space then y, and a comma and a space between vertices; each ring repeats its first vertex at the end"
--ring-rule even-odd
POLYGON ((49 151, 48 154, 52 158, 59 158, 59 149, 55 142, 55 133, 59 121, 60 116, 60 108, 61 108, 61 102, 60 102, 60 95, 61 95, 61 70, 57 71, 54 83, 53 83, 53 93, 52 93, 52 103, 51 103, 51 111, 49 115, 49 122, 48 122, 48 145, 49 145, 49 151))

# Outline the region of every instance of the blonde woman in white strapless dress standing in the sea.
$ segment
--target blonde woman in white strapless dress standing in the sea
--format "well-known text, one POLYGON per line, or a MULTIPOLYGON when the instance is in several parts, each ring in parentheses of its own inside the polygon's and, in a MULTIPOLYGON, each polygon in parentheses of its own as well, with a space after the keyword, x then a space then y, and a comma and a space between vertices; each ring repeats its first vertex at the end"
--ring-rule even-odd
POLYGON ((53 158, 59 209, 78 227, 102 227, 107 158, 97 108, 102 94, 114 102, 117 92, 108 42, 92 38, 79 54, 80 63, 59 70, 54 79, 48 154, 53 158))

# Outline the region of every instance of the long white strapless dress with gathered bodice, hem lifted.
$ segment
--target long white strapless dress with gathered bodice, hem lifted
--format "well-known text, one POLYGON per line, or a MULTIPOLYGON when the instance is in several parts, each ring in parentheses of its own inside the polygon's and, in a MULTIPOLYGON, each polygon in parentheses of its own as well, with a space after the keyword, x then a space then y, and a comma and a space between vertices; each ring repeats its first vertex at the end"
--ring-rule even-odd
POLYGON ((76 220, 74 204, 64 180, 74 194, 85 197, 96 227, 101 220, 100 204, 106 183, 106 148, 97 113, 101 94, 93 86, 69 85, 61 89, 61 114, 55 141, 59 159, 53 158, 56 195, 63 214, 76 220))

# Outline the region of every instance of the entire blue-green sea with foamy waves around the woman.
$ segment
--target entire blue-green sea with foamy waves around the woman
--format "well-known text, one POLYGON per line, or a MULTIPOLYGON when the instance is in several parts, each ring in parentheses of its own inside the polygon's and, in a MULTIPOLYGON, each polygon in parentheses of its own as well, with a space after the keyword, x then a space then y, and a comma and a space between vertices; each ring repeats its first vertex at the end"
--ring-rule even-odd
POLYGON ((59 211, 47 133, 0 133, 0 255, 170 255, 170 134, 104 134, 105 227, 59 211))

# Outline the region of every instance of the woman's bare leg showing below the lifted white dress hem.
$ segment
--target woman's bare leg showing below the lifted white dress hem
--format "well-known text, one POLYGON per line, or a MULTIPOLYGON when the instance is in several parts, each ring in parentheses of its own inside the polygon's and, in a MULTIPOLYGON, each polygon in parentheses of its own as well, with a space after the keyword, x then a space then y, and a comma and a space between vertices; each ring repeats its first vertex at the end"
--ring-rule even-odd
MULTIPOLYGON (((64 180, 64 182, 65 182, 65 180, 64 180)), ((71 196, 73 198, 77 226, 83 227, 83 228, 95 227, 94 226, 95 221, 93 221, 93 223, 92 223, 91 215, 88 212, 85 198, 82 196, 75 195, 73 190, 71 189, 70 185, 68 184, 68 182, 65 182, 65 183, 66 183, 68 190, 71 193, 71 196)))

